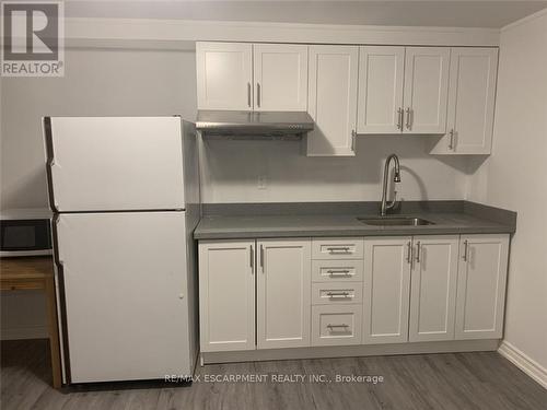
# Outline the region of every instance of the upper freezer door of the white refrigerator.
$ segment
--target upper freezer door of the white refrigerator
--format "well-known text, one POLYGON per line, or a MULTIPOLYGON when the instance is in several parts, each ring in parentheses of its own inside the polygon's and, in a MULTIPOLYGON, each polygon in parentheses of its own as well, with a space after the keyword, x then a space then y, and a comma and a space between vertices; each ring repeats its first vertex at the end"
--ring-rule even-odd
POLYGON ((46 117, 58 212, 184 209, 179 117, 46 117))

